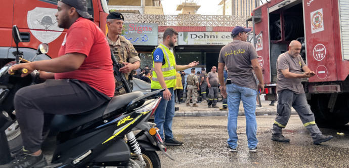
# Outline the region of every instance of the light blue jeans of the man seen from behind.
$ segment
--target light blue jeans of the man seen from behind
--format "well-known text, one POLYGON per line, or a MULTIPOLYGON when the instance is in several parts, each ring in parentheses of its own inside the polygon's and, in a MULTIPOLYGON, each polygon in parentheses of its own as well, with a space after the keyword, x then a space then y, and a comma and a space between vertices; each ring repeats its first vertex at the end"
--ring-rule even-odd
POLYGON ((235 149, 237 147, 238 135, 236 134, 237 119, 239 113, 240 100, 245 110, 246 116, 246 135, 248 148, 254 149, 257 146, 257 122, 255 116, 256 109, 256 91, 250 88, 239 87, 234 83, 227 85, 228 94, 228 145, 235 149))

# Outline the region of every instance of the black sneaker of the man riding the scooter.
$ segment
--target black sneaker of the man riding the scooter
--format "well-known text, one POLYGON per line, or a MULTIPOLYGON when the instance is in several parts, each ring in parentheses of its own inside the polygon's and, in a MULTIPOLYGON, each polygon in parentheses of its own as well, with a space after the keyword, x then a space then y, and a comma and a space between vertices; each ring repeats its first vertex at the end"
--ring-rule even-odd
POLYGON ((47 161, 43 153, 35 156, 29 153, 22 152, 10 163, 0 165, 0 168, 14 168, 14 167, 23 167, 23 168, 41 168, 47 166, 47 161))

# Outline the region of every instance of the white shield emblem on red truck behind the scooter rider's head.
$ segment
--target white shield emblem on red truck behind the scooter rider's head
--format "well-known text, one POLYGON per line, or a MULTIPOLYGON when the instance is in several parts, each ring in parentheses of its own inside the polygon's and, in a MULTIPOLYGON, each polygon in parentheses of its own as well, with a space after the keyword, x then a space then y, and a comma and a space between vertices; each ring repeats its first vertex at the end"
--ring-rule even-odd
POLYGON ((28 11, 27 24, 34 35, 41 43, 51 43, 57 39, 64 30, 59 28, 55 14, 57 9, 39 8, 28 11))

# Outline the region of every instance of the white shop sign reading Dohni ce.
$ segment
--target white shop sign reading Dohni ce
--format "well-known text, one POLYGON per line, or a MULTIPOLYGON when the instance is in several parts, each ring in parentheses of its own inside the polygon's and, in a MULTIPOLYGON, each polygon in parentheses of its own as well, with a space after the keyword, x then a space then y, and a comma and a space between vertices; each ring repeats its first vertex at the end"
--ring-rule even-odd
POLYGON ((231 32, 179 32, 178 45, 227 45, 231 32))

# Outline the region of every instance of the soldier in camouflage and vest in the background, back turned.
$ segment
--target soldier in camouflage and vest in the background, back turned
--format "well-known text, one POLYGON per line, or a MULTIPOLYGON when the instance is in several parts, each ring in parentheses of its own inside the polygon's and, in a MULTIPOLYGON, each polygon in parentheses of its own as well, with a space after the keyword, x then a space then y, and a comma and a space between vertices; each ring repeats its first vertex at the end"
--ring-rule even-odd
POLYGON ((193 96, 193 107, 198 107, 196 101, 198 99, 198 91, 200 91, 200 87, 198 77, 195 75, 195 68, 192 68, 192 73, 187 77, 187 89, 187 106, 190 106, 190 97, 193 96))

